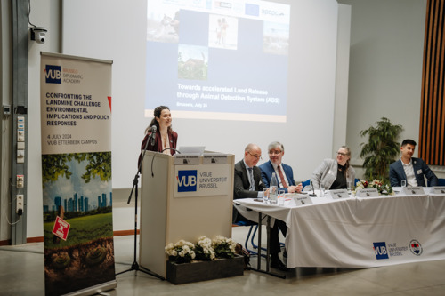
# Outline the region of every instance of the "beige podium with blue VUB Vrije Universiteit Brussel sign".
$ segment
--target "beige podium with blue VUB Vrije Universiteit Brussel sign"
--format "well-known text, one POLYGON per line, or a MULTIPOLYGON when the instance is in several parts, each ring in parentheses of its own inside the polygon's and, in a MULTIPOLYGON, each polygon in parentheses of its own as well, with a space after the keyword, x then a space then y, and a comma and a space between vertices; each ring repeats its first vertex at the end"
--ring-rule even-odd
POLYGON ((231 237, 234 156, 168 156, 146 151, 142 163, 139 260, 166 277, 166 244, 199 236, 231 237))

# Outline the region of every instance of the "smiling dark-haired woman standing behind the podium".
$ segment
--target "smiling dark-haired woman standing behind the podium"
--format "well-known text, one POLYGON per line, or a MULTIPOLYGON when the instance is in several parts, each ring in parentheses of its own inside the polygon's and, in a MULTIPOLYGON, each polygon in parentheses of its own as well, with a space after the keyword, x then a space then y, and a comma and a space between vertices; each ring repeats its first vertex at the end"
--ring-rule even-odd
POLYGON ((153 111, 155 116, 149 126, 145 129, 145 137, 141 144, 141 155, 138 167, 141 165, 142 152, 144 149, 156 151, 173 156, 176 153, 176 142, 178 134, 172 129, 172 114, 166 106, 158 106, 153 111))

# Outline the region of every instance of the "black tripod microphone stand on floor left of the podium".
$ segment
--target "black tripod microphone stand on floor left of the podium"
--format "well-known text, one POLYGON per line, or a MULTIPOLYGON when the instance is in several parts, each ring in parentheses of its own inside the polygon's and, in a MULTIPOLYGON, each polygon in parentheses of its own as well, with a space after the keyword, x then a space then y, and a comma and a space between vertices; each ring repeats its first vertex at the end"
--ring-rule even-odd
POLYGON ((137 250, 136 249, 136 246, 137 246, 136 241, 137 241, 137 228, 138 228, 138 180, 139 180, 139 174, 140 174, 141 168, 142 168, 143 157, 145 156, 145 151, 147 151, 147 148, 149 146, 150 137, 151 136, 149 136, 149 139, 147 139, 147 143, 145 143, 145 148, 142 151, 141 163, 138 166, 138 172, 136 172, 136 175, 134 176, 133 188, 132 188, 132 191, 130 192, 130 196, 128 197, 128 202, 126 203, 126 204, 130 204, 130 201, 133 196, 133 191, 134 191, 134 260, 133 260, 133 264, 132 264, 131 268, 117 273, 116 276, 123 274, 125 272, 128 272, 128 271, 135 270, 135 271, 142 271, 143 273, 150 275, 150 276, 158 277, 158 279, 160 279, 160 280, 165 280, 165 278, 163 276, 159 276, 158 274, 152 272, 150 269, 140 266, 136 260, 136 250, 137 250))

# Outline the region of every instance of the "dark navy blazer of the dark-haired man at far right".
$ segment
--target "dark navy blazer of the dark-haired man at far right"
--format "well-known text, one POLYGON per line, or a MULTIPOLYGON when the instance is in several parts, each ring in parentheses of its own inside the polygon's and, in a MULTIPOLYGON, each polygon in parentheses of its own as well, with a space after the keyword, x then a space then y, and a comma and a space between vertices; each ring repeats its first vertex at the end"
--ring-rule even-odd
MULTIPOLYGON (((433 171, 425 164, 425 162, 416 157, 411 157, 413 162, 414 175, 416 176, 417 185, 425 187, 425 178, 430 181, 430 186, 437 186, 438 180, 433 171)), ((401 164, 401 159, 390 164, 390 181, 392 187, 400 187, 401 180, 407 180, 407 175, 401 164)))

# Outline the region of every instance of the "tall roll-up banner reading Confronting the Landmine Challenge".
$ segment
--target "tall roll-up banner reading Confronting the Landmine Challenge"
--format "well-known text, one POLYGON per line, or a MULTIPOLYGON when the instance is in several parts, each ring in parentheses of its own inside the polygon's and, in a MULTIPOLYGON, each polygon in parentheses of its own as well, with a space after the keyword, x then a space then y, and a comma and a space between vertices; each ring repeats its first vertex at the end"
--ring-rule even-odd
POLYGON ((41 53, 45 295, 116 287, 111 66, 41 53))

